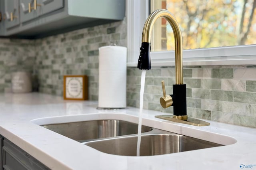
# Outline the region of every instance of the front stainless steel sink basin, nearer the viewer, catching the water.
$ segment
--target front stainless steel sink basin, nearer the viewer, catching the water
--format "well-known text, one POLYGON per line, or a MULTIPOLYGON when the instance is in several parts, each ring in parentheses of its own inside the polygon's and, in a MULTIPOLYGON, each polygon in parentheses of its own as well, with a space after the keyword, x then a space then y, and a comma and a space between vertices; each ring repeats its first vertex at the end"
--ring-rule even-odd
MULTIPOLYGON (((91 141, 85 142, 84 144, 108 154, 136 156, 137 136, 91 141)), ((154 129, 151 132, 142 135, 140 156, 171 154, 216 146, 222 145, 172 132, 166 132, 164 130, 154 129)))

